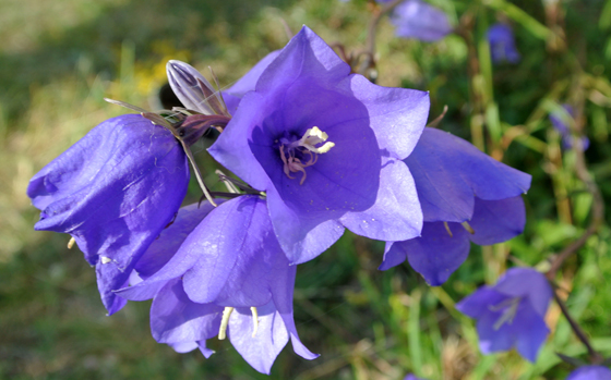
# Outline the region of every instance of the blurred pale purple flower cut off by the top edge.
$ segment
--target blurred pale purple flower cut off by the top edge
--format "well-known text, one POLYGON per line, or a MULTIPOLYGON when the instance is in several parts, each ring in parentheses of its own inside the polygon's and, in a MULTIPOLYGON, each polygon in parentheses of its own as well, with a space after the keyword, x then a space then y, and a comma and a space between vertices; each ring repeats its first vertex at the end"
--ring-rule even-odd
POLYGON ((399 3, 391 15, 391 22, 397 27, 397 37, 416 38, 431 42, 452 33, 447 15, 421 0, 406 0, 399 3))

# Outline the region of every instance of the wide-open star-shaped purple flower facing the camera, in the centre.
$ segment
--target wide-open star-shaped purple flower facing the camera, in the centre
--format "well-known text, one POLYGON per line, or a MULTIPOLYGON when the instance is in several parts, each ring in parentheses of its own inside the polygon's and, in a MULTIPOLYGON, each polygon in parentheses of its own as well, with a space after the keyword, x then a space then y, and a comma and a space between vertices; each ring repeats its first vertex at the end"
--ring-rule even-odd
POLYGON ((421 212, 407 166, 429 110, 427 93, 385 88, 303 27, 263 71, 211 155, 265 192, 290 262, 348 228, 378 240, 417 236, 421 212))

